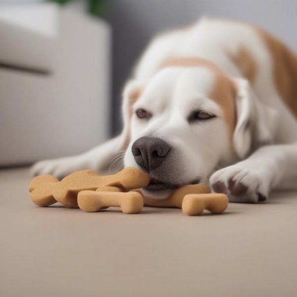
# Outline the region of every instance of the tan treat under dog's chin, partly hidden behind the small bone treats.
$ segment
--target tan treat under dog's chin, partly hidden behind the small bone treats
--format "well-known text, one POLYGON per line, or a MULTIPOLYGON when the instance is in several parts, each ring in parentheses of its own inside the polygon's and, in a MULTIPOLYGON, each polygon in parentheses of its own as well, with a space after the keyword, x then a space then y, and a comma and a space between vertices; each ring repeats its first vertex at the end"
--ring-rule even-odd
MULTIPOLYGON (((140 190, 133 190, 141 193, 140 190)), ((186 195, 188 194, 208 194, 210 189, 203 185, 186 185, 177 190, 175 190, 169 198, 166 199, 151 199, 144 197, 145 206, 154 207, 176 207, 182 208, 182 202, 186 195)))

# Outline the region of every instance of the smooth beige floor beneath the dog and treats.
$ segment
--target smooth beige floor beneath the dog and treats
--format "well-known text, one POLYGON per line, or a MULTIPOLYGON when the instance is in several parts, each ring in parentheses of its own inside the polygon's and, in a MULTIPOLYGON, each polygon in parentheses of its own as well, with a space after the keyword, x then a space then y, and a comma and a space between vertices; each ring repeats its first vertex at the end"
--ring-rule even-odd
POLYGON ((297 296, 297 192, 222 215, 34 205, 0 171, 1 297, 297 296))

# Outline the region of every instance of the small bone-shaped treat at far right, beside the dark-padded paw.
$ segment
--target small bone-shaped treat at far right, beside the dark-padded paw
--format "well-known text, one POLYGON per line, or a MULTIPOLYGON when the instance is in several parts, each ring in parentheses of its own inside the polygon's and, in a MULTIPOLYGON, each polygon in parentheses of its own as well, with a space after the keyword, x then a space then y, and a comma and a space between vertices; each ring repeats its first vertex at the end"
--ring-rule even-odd
POLYGON ((211 213, 221 213, 228 207, 225 194, 188 194, 184 197, 182 210, 188 215, 199 215, 204 209, 211 213))

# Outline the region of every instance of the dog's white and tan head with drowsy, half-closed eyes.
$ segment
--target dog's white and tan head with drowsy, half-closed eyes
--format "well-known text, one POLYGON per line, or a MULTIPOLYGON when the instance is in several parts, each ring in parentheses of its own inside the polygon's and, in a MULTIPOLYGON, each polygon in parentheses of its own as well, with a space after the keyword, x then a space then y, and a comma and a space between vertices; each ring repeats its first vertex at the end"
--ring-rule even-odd
POLYGON ((246 81, 205 60, 171 61, 149 81, 129 82, 123 96, 124 163, 149 173, 152 198, 207 182, 217 166, 271 138, 273 112, 246 81))

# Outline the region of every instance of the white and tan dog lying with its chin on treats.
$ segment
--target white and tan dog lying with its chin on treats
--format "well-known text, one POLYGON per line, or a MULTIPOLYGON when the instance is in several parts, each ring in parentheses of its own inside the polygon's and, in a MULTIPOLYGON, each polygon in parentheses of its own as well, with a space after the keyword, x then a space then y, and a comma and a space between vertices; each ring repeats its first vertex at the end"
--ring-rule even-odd
POLYGON ((264 201, 297 186, 297 56, 256 26, 198 23, 155 38, 123 93, 120 136, 78 156, 46 160, 34 174, 148 171, 144 193, 210 182, 233 202, 264 201))

